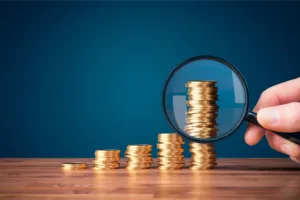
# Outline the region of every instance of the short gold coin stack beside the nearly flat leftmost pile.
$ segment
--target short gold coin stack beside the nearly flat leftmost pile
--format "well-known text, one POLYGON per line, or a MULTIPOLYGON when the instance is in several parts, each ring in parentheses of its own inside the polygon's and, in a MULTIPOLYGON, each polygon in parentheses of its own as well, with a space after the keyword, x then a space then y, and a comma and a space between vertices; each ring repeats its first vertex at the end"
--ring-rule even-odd
POLYGON ((117 169, 120 167, 120 150, 95 151, 94 169, 117 169))

